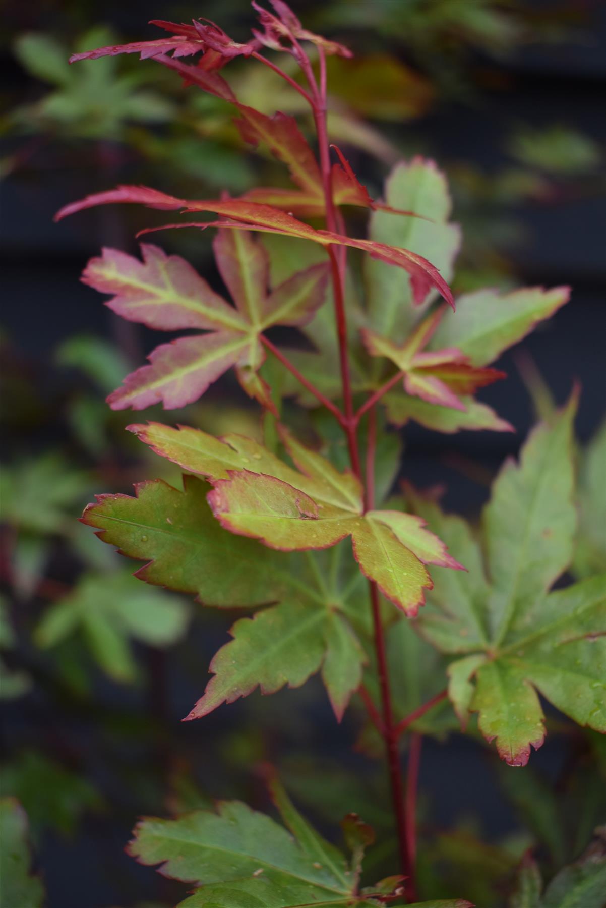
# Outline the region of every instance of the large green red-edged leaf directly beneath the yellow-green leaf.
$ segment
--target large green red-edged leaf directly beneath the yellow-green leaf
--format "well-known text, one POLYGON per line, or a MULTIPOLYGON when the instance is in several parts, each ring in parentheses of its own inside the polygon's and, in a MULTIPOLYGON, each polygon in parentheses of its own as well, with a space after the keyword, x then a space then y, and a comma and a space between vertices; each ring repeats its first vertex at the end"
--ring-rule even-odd
POLYGON ((183 479, 182 492, 154 480, 137 486, 136 498, 100 496, 83 522, 123 555, 147 561, 136 576, 148 583, 191 593, 206 606, 269 606, 231 629, 233 640, 214 657, 214 677, 191 717, 257 686, 272 693, 321 671, 340 718, 367 658, 358 630, 370 631, 364 578, 353 559, 342 547, 288 555, 233 536, 212 516, 209 484, 183 479))

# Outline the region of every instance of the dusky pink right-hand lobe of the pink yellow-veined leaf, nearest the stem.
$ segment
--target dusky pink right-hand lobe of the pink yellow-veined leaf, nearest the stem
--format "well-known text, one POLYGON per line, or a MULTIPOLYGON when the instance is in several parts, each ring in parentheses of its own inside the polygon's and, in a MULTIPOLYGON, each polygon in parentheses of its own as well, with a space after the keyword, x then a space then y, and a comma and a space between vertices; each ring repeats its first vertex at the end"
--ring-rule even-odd
POLYGON ((263 325, 306 325, 326 299, 329 273, 328 262, 320 262, 281 283, 263 301, 263 325))

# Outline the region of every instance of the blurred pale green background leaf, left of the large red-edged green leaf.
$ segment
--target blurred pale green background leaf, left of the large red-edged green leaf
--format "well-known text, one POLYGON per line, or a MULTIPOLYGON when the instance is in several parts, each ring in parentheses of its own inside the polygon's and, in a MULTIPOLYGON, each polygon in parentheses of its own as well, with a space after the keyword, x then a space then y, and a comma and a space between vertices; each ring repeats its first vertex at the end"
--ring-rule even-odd
POLYGON ((43 648, 81 631, 95 661, 115 681, 138 676, 129 637, 151 646, 170 646, 189 621, 178 597, 141 587, 129 574, 85 574, 69 596, 46 609, 34 638, 43 648))

